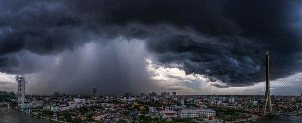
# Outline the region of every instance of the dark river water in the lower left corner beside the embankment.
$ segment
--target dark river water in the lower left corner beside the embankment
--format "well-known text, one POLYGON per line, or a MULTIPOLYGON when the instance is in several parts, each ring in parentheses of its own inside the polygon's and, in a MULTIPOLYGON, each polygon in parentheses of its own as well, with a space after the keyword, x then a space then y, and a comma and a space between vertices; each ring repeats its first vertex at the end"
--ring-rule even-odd
POLYGON ((8 108, 0 104, 0 123, 59 123, 48 119, 30 116, 29 113, 8 108))

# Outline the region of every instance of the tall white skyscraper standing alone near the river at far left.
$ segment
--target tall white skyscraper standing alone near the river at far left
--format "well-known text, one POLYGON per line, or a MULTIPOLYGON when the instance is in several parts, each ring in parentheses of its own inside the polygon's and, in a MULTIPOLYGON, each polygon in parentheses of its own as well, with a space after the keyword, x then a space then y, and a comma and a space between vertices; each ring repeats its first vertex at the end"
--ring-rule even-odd
POLYGON ((24 100, 25 100, 25 80, 23 77, 19 77, 18 79, 18 106, 20 108, 24 108, 24 100))

